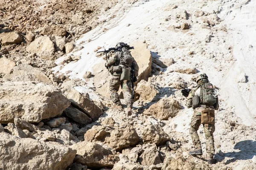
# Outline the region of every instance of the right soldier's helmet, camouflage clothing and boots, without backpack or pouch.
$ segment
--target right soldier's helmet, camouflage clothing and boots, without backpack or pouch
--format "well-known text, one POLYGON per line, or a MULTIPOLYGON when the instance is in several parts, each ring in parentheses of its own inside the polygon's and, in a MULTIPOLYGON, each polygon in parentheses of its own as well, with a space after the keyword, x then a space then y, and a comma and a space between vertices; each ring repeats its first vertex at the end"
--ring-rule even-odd
MULTIPOLYGON (((208 83, 208 77, 206 74, 201 74, 197 77, 196 82, 198 83, 197 87, 195 89, 192 89, 192 91, 189 92, 188 100, 186 102, 187 108, 192 107, 192 98, 195 95, 199 95, 200 93, 200 86, 204 85, 204 83, 208 83)), ((202 147, 201 142, 197 133, 197 130, 199 129, 199 126, 201 125, 201 113, 203 109, 208 110, 218 110, 218 99, 214 106, 207 106, 207 105, 198 105, 198 107, 195 108, 194 114, 191 119, 190 123, 190 135, 192 142, 195 146, 195 150, 189 152, 190 155, 202 155, 202 147)), ((207 159, 209 164, 214 164, 215 159, 213 159, 215 149, 214 149, 214 139, 213 139, 213 133, 215 131, 215 125, 209 125, 209 124, 202 124, 204 127, 204 134, 206 138, 206 150, 207 150, 207 159)))

